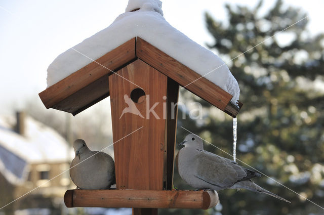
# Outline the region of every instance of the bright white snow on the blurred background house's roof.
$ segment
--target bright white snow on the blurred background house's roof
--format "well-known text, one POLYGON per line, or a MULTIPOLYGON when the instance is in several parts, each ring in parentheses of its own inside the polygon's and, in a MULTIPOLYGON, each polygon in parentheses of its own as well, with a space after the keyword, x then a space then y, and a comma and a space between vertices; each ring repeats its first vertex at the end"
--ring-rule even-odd
POLYGON ((53 128, 26 116, 25 136, 21 136, 4 121, 0 120, 0 145, 26 162, 69 162, 73 158, 73 149, 53 128))

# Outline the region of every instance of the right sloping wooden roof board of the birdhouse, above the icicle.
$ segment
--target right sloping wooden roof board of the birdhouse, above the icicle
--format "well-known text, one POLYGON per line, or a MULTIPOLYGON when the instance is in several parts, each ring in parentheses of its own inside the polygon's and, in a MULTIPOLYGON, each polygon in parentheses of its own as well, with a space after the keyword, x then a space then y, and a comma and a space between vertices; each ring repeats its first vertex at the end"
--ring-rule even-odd
MULTIPOLYGON (((232 95, 140 37, 137 37, 136 40, 136 55, 139 59, 177 81, 181 86, 189 84, 185 89, 222 111, 225 111, 230 103, 232 95)), ((227 112, 233 112, 232 114, 235 115, 238 111, 230 109, 227 112)))

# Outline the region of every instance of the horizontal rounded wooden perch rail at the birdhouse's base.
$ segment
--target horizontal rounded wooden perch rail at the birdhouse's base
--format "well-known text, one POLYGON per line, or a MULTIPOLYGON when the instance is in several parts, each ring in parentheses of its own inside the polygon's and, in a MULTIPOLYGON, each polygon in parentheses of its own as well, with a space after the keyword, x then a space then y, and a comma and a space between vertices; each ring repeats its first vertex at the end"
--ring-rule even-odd
POLYGON ((208 209, 218 203, 216 191, 67 190, 67 207, 136 207, 208 209))

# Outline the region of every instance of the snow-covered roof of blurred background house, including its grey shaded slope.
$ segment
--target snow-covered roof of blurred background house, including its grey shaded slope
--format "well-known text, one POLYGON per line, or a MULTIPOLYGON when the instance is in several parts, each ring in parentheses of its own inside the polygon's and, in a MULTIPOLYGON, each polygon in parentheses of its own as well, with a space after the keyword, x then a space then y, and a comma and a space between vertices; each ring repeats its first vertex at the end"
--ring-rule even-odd
POLYGON ((26 179, 28 164, 69 162, 72 156, 65 139, 43 123, 26 116, 22 136, 0 117, 0 173, 12 184, 26 179))

